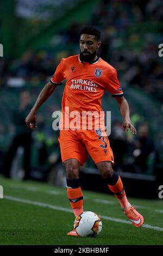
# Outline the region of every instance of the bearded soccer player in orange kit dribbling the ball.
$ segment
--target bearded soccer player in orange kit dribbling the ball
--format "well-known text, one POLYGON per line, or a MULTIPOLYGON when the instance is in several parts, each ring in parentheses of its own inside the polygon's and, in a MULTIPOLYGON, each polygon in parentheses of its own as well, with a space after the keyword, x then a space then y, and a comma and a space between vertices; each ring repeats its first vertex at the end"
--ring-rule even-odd
MULTIPOLYGON (((88 111, 102 112, 101 100, 106 89, 118 103, 123 118, 122 129, 130 129, 130 132, 136 135, 136 129, 130 123, 129 106, 117 79, 117 71, 97 54, 101 46, 100 36, 101 33, 93 27, 85 27, 80 31, 80 54, 61 59, 51 81, 42 89, 28 114, 26 124, 30 129, 36 129, 36 112, 55 88, 66 80, 62 96, 63 118, 60 122, 62 130, 60 129, 59 143, 62 162, 66 168, 67 196, 74 215, 78 216, 84 211, 83 193, 79 185, 79 166, 84 164, 89 154, 120 203, 124 214, 135 227, 141 227, 143 217, 128 202, 121 178, 112 169, 114 156, 103 127, 90 130, 90 123, 86 122, 86 129, 82 129, 83 126, 79 124, 81 119, 78 118, 77 129, 71 129, 65 121, 68 115, 71 123, 71 113, 74 114, 74 111, 76 114, 88 111)), ((92 121, 92 127, 96 127, 95 120, 92 121)), ((78 234, 76 230, 72 230, 67 235, 78 234)))

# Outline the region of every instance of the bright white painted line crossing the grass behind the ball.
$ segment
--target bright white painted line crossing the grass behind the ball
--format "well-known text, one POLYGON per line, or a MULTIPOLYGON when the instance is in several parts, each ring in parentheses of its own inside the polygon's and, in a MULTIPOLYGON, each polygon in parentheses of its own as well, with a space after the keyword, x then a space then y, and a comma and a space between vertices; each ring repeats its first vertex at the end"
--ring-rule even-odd
MULTIPOLYGON (((55 205, 51 205, 51 204, 45 204, 45 203, 41 203, 41 202, 35 202, 35 201, 26 200, 26 199, 22 199, 22 198, 18 198, 18 197, 11 197, 11 196, 4 196, 4 198, 8 199, 8 200, 20 202, 20 203, 33 204, 33 205, 37 205, 37 206, 41 206, 41 207, 45 207, 45 208, 51 208, 53 210, 66 211, 66 212, 73 213, 71 209, 60 207, 60 206, 55 206, 55 205)), ((130 221, 121 220, 120 218, 112 218, 112 217, 103 216, 103 215, 100 215, 100 216, 104 220, 131 224, 130 221)), ((154 229, 154 230, 158 230, 158 231, 163 231, 163 228, 154 227, 149 224, 143 224, 142 228, 149 228, 149 229, 154 229)))

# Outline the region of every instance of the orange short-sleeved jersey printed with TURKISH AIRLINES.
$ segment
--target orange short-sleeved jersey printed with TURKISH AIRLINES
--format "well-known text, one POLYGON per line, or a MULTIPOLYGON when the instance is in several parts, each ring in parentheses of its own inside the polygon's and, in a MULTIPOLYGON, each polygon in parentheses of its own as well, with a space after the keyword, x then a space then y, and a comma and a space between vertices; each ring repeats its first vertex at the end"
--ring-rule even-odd
POLYGON ((78 111, 81 117, 82 112, 102 112, 101 102, 105 89, 113 97, 123 96, 116 69, 100 57, 92 63, 82 62, 79 54, 61 59, 51 83, 61 84, 64 80, 66 80, 62 96, 64 115, 65 107, 69 107, 69 113, 78 111))

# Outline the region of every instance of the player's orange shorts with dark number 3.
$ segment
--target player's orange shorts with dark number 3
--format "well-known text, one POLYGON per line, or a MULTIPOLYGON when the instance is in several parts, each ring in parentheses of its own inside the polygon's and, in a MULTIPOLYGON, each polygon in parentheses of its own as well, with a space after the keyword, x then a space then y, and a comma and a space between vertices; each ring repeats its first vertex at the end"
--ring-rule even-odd
POLYGON ((83 166, 90 155, 95 164, 102 161, 114 164, 114 156, 105 131, 61 130, 58 140, 62 163, 74 158, 83 166))

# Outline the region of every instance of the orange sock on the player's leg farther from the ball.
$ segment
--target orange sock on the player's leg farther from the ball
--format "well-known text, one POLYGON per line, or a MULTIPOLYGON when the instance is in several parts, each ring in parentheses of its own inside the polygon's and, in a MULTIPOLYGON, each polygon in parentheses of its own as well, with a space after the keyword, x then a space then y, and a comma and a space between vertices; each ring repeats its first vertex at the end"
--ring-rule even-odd
POLYGON ((112 193, 114 193, 115 197, 118 199, 122 209, 127 209, 129 202, 127 200, 120 176, 118 175, 118 180, 115 185, 108 185, 108 187, 110 188, 112 193))

